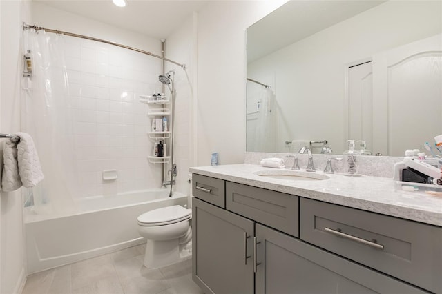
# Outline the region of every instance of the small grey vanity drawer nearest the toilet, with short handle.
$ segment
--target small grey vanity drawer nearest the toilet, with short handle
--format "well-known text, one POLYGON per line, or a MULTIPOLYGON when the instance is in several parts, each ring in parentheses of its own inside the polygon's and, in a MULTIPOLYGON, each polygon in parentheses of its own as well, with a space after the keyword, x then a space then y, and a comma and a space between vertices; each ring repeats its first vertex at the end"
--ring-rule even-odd
POLYGON ((225 204, 225 184, 222 179, 206 177, 205 175, 192 175, 193 196, 222 208, 225 204))

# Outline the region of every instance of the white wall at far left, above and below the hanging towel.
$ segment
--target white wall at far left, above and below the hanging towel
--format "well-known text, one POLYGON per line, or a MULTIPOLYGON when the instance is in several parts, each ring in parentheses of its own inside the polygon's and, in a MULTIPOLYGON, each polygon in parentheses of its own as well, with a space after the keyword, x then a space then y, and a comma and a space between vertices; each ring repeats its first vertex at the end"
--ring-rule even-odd
MULTIPOLYGON (((22 1, 0 1, 0 133, 14 133, 20 130, 22 4, 22 1)), ((2 159, 0 166, 3 166, 2 159)), ((0 193, 2 294, 20 293, 26 278, 20 192, 21 189, 11 193, 0 193)))

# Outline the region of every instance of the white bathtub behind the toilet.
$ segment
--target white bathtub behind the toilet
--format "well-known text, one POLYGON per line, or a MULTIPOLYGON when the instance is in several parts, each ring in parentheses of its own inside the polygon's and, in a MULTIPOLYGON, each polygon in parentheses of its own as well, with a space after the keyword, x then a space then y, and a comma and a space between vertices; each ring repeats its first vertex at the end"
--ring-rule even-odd
POLYGON ((137 233, 137 217, 148 210, 186 205, 186 195, 168 189, 112 197, 88 197, 79 213, 65 216, 24 213, 28 273, 43 271, 146 242, 137 233))

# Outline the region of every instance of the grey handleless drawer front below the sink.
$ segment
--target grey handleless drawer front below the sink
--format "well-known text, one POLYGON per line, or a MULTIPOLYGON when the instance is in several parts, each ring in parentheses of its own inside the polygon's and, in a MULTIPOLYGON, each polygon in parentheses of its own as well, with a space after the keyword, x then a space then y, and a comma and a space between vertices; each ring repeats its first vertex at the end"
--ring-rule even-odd
POLYGON ((226 208, 298 237, 298 196, 226 182, 226 208))

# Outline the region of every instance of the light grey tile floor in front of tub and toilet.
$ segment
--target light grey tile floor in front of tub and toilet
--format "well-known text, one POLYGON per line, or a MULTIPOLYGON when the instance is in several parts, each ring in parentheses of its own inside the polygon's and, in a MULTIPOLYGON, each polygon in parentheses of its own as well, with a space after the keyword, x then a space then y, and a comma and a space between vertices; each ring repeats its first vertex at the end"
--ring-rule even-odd
POLYGON ((164 268, 143 266, 146 244, 30 275, 22 294, 202 294, 191 259, 164 268))

